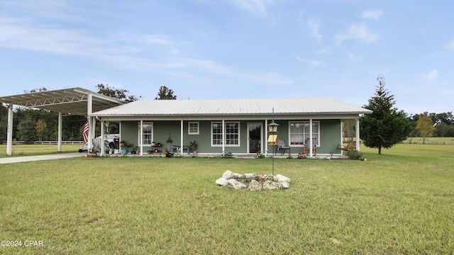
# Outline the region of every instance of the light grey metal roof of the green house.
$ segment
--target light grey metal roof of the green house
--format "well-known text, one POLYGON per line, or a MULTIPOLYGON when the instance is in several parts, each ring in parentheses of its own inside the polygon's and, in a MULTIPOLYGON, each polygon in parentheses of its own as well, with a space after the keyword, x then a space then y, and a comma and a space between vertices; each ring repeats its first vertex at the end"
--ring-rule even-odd
POLYGON ((267 98, 134 101, 93 113, 115 116, 368 114, 372 111, 333 98, 267 98))

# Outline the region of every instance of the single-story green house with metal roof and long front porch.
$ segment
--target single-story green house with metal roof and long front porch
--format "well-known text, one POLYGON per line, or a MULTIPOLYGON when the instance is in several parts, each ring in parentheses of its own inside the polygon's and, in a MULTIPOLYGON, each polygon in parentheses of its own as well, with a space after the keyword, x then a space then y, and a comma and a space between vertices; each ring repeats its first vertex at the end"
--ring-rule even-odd
MULTIPOLYGON (((279 140, 296 155, 310 137, 309 157, 340 155, 343 120, 356 120, 356 149, 359 148, 359 118, 371 111, 333 98, 265 98, 214 100, 134 101, 89 113, 90 120, 120 123, 121 150, 173 151, 186 154, 196 141, 197 152, 206 156, 275 153, 270 138, 279 140), (275 121, 277 133, 267 125, 275 121)), ((104 128, 101 128, 101 135, 104 128)), ((275 141, 272 141, 275 142, 275 141)), ((101 153, 104 153, 104 148, 101 153)), ((287 153, 287 152, 286 152, 287 153)))

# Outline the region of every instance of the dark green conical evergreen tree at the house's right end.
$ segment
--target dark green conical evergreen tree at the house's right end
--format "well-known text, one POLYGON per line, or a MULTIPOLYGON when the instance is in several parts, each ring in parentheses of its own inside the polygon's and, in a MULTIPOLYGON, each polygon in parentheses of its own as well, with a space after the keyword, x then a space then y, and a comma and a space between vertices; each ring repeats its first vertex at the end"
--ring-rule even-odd
POLYGON ((394 108, 394 96, 384 89, 384 79, 377 77, 378 86, 375 96, 369 99, 364 108, 373 111, 360 119, 360 137, 365 146, 389 149, 402 142, 411 132, 411 124, 404 111, 394 108))

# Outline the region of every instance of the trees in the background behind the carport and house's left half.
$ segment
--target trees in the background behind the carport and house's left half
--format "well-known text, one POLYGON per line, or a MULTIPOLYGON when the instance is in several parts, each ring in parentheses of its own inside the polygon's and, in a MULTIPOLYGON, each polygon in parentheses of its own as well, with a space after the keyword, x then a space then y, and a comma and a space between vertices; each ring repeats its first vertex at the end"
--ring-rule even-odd
MULTIPOLYGON (((108 84, 97 84, 97 93, 117 98, 126 103, 137 101, 141 96, 131 96, 126 89, 115 89, 108 84)), ((46 88, 24 91, 25 94, 48 91, 46 88)), ((177 99, 172 89, 161 86, 155 100, 177 99)), ((62 122, 62 140, 82 141, 82 132, 87 123, 87 116, 67 115, 62 122)), ((8 125, 8 107, 4 103, 0 104, 0 141, 6 142, 6 130, 8 125)), ((100 123, 96 122, 96 134, 100 133, 100 123)), ((109 133, 118 133, 117 123, 109 125, 109 133)), ((18 106, 13 110, 13 140, 26 143, 40 141, 56 141, 58 139, 58 113, 18 106)))

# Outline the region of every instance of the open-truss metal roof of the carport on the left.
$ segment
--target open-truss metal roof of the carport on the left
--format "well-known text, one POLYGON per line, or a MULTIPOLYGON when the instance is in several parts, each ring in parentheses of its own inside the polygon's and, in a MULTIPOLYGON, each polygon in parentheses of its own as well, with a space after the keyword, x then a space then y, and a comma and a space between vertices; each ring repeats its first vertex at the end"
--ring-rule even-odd
POLYGON ((42 91, 14 96, 1 96, 0 103, 41 108, 66 115, 87 115, 88 98, 92 95, 92 111, 101 111, 123 104, 116 98, 97 94, 82 88, 42 91))

